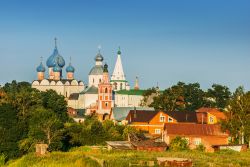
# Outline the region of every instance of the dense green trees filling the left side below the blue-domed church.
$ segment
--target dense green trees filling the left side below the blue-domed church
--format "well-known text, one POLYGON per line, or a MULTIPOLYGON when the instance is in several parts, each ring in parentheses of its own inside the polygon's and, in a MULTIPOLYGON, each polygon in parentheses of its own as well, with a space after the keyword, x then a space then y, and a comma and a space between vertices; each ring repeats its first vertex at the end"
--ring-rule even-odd
POLYGON ((67 114, 64 97, 53 90, 40 92, 26 82, 7 83, 0 89, 0 155, 7 159, 34 151, 46 143, 50 151, 123 140, 128 130, 112 121, 86 117, 75 123, 67 114))

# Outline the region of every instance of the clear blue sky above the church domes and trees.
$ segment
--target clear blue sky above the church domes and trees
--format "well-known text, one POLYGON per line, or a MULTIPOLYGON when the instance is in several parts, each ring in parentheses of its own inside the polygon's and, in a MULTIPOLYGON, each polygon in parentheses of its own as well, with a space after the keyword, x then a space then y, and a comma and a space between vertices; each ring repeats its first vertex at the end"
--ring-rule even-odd
POLYGON ((110 72, 121 46, 131 85, 139 76, 143 88, 184 81, 250 90, 249 0, 1 0, 0 83, 36 79, 54 37, 85 82, 101 45, 110 72))

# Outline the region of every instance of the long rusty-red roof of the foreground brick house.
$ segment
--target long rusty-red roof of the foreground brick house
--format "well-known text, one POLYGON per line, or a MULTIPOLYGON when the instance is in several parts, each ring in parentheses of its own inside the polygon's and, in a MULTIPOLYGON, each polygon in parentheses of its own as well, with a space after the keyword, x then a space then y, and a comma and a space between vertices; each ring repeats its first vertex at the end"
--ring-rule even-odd
POLYGON ((167 134, 172 135, 228 136, 228 134, 221 131, 219 125, 208 124, 166 123, 165 131, 167 134))

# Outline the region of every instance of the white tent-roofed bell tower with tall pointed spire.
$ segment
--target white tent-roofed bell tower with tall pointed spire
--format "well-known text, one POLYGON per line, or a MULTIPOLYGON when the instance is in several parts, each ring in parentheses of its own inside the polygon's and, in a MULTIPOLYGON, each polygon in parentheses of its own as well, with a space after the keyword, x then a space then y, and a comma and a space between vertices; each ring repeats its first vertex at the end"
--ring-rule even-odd
POLYGON ((128 82, 126 81, 125 74, 123 72, 122 60, 121 60, 121 50, 117 52, 117 60, 114 68, 113 75, 111 76, 111 84, 113 85, 113 90, 129 90, 128 82))

